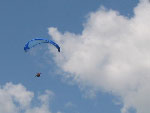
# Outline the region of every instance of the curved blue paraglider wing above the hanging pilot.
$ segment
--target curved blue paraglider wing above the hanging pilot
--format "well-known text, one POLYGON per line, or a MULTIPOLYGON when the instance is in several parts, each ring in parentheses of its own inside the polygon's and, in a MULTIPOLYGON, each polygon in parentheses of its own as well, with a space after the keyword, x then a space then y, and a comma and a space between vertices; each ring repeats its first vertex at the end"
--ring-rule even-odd
POLYGON ((39 45, 39 44, 42 44, 42 43, 50 43, 58 49, 58 52, 60 52, 60 47, 59 47, 58 44, 56 44, 52 40, 47 40, 47 39, 43 39, 43 38, 35 38, 35 39, 30 40, 29 42, 27 42, 25 44, 24 50, 25 50, 25 52, 27 52, 32 47, 35 47, 36 45, 39 45))

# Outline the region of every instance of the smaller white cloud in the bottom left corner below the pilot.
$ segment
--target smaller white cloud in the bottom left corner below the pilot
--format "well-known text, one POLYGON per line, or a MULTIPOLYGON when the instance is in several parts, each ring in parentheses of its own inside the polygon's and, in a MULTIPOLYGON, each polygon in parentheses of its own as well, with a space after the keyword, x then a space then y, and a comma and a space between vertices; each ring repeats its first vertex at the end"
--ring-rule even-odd
POLYGON ((21 84, 7 83, 0 87, 0 113, 51 113, 49 102, 54 93, 46 90, 38 96, 38 105, 31 105, 34 93, 21 84))

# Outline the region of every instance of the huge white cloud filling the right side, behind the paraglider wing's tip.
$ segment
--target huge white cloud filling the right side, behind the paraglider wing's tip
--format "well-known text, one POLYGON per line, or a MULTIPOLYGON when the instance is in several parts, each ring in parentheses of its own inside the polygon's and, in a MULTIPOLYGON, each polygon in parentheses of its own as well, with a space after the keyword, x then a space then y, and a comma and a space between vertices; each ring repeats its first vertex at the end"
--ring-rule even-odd
POLYGON ((100 8, 89 14, 82 34, 49 34, 61 46, 57 65, 79 85, 90 86, 121 98, 122 113, 135 108, 150 111, 150 3, 141 0, 127 18, 100 8))

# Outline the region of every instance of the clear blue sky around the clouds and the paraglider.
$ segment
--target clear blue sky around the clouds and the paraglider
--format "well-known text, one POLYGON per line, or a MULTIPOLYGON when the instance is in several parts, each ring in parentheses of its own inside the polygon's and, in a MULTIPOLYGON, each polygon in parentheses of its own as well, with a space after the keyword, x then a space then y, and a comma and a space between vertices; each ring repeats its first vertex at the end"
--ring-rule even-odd
MULTIPOLYGON (((44 37, 55 40, 55 32, 48 33, 51 27, 57 28, 56 32, 61 33, 62 37, 72 36, 65 35, 66 31, 75 35, 84 34, 83 31, 86 30, 90 18, 88 15, 102 10, 101 6, 104 6, 108 12, 109 10, 119 12, 123 18, 128 18, 127 20, 130 21, 130 18, 134 17, 133 10, 138 3, 138 0, 1 0, 0 85, 5 86, 9 82, 14 85, 22 84, 28 91, 34 93, 32 107, 38 106, 39 95, 42 95, 45 90, 50 90, 54 93, 48 105, 50 113, 121 113, 120 109, 125 102, 119 101, 120 97, 122 98, 120 92, 113 88, 110 88, 111 90, 103 88, 102 85, 99 89, 95 85, 91 86, 91 82, 86 86, 82 80, 79 82, 66 80, 64 73, 74 72, 70 68, 65 70, 63 63, 59 64, 57 59, 53 58, 59 53, 49 54, 50 50, 47 46, 42 45, 42 48, 37 47, 30 54, 25 53, 23 47, 32 38, 44 37), (60 73, 59 70, 63 72, 60 73), (37 72, 43 73, 40 78, 34 77, 37 72), (89 94, 89 91, 93 91, 91 87, 96 89, 96 94, 94 93, 96 96, 92 98, 89 94), (115 104, 117 101, 121 104, 115 104)), ((56 42, 59 43, 59 40, 56 39, 56 42)), ((73 77, 71 76, 71 79, 73 77)), ((129 111, 135 113, 136 107, 132 105, 130 107, 133 109, 129 111)))

